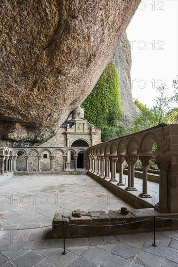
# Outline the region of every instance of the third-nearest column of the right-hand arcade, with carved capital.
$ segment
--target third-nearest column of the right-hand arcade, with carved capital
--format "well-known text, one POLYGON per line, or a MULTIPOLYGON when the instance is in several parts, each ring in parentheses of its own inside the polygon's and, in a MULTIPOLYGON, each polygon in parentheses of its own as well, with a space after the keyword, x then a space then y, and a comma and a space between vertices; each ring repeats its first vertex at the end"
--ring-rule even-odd
POLYGON ((137 161, 136 155, 128 155, 126 156, 126 162, 128 164, 128 186, 125 188, 127 191, 135 191, 137 190, 134 187, 134 164, 137 161))

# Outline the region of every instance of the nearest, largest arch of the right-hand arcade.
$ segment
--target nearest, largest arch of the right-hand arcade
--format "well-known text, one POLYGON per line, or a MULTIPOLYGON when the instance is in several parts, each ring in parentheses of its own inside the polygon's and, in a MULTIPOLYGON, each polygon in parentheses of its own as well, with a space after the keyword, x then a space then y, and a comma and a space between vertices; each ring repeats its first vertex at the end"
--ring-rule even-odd
POLYGON ((158 151, 160 150, 160 145, 158 138, 153 133, 147 133, 144 135, 140 142, 140 150, 141 152, 151 152, 153 144, 156 143, 158 147, 158 151))

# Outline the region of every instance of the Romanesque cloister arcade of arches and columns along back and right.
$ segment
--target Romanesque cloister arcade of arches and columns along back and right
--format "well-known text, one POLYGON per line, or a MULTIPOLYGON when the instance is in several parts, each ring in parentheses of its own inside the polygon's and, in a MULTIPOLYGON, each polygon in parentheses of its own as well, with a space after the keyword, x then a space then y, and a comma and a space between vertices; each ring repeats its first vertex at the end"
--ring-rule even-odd
MULTIPOLYGON (((143 168, 143 189, 139 199, 151 198, 147 193, 147 167, 155 158, 160 169, 159 202, 155 209, 159 212, 178 212, 178 125, 160 124, 134 134, 87 147, 1 147, 0 174, 13 176, 22 174, 64 174, 79 169, 77 160, 82 153, 86 159, 88 175, 99 177, 109 183, 117 182, 117 187, 125 192, 136 191, 134 165, 139 158, 143 168), (152 151, 153 144, 157 150, 152 151), (66 167, 67 154, 72 154, 74 167, 66 167), (123 182, 123 163, 128 164, 128 184, 123 182), (58 166, 58 168, 56 167, 58 166), (116 170, 119 180, 116 180, 116 170)), ((85 168, 83 168, 85 170, 85 168)), ((107 186, 105 184, 104 186, 107 186)))

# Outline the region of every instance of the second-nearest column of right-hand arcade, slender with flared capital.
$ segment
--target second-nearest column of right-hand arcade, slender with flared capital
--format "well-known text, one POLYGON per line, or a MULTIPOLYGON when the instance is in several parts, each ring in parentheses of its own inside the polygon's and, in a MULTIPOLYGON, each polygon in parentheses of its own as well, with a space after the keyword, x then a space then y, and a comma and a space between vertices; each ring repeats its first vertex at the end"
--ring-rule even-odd
POLYGON ((151 198, 151 196, 148 194, 147 192, 147 170, 148 170, 148 165, 149 165, 149 161, 150 159, 152 159, 152 157, 149 156, 140 156, 139 159, 142 162, 142 167, 143 167, 143 189, 142 189, 142 193, 139 194, 139 197, 141 198, 151 198))

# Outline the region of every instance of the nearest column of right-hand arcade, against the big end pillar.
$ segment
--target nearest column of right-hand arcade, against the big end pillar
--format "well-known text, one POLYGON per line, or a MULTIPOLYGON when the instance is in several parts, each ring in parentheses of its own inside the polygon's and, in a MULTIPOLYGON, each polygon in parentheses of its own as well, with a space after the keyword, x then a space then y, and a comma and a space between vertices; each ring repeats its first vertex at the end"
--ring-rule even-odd
POLYGON ((167 172, 169 169, 170 162, 171 162, 171 157, 169 156, 156 157, 156 164, 160 169, 160 183, 159 183, 159 202, 156 204, 155 210, 158 210, 159 212, 168 212, 167 172))

